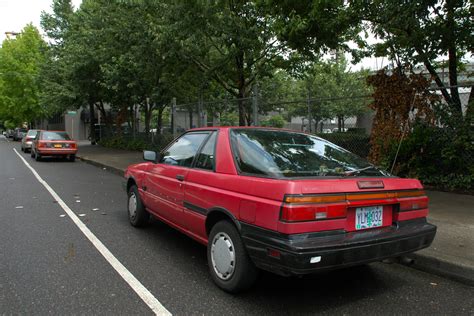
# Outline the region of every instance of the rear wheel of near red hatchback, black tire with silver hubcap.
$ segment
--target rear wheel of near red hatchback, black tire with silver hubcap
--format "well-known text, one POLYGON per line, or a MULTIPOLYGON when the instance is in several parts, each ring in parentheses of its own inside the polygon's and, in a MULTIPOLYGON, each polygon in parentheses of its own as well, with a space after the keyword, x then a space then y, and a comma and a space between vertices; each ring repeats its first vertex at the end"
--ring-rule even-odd
POLYGON ((239 232, 226 220, 218 222, 211 229, 207 262, 214 283, 229 293, 250 288, 258 276, 258 269, 248 256, 239 232))

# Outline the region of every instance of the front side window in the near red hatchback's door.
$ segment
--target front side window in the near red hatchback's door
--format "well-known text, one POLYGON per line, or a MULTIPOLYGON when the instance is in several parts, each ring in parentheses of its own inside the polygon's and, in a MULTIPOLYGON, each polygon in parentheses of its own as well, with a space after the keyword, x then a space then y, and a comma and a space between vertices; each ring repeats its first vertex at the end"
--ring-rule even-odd
POLYGON ((209 133, 188 133, 183 135, 163 152, 160 162, 167 165, 191 167, 193 158, 207 135, 209 133))

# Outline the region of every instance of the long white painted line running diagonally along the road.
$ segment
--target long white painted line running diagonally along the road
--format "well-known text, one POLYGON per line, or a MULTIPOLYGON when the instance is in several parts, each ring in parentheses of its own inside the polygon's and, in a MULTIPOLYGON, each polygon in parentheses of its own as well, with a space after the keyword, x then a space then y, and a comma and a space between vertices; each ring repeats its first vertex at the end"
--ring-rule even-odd
POLYGON ((49 186, 49 184, 41 178, 41 176, 36 172, 33 167, 23 158, 20 153, 13 148, 15 153, 23 160, 23 163, 31 170, 36 179, 48 190, 48 192, 53 196, 53 198, 58 201, 58 204, 61 205, 66 214, 72 219, 74 224, 81 230, 81 232, 90 240, 94 247, 102 254, 102 256, 107 260, 107 262, 117 271, 118 274, 125 280, 125 282, 130 285, 130 287, 135 291, 135 293, 140 296, 140 298, 151 308, 151 310, 156 315, 171 315, 171 313, 153 296, 153 294, 148 291, 140 281, 135 278, 135 276, 128 271, 128 269, 118 261, 118 259, 105 247, 105 245, 87 228, 87 226, 76 216, 76 214, 64 203, 64 201, 59 197, 59 195, 49 186))

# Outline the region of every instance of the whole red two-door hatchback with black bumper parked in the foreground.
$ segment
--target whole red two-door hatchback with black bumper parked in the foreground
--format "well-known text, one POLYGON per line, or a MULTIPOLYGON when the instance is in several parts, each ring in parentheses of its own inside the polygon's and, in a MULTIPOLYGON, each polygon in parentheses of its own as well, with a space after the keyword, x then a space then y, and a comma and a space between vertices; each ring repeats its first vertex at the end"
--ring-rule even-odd
POLYGON ((193 129, 125 172, 133 226, 150 214, 207 245, 228 292, 258 269, 301 275, 428 247, 428 197, 324 139, 269 128, 193 129))

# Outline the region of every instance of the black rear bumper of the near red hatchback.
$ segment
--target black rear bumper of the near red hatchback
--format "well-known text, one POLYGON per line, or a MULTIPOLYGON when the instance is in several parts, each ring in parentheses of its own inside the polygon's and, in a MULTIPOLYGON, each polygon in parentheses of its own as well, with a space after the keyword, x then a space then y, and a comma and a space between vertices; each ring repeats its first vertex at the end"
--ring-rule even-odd
POLYGON ((428 247, 436 234, 436 226, 425 218, 381 229, 298 235, 282 235, 241 224, 242 239, 254 263, 282 275, 308 274, 401 256, 428 247), (269 249, 279 251, 280 257, 269 256, 269 249), (320 261, 311 263, 314 257, 320 257, 320 261))

